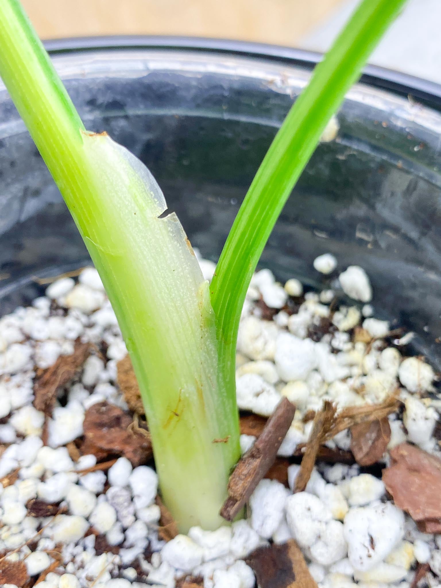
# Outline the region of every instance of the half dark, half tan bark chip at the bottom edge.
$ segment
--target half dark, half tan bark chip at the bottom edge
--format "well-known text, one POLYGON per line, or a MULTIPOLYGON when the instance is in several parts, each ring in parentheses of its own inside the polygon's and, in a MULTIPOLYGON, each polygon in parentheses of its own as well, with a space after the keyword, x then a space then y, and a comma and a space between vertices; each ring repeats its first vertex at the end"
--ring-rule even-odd
POLYGON ((258 547, 245 562, 256 574, 260 588, 318 588, 293 539, 281 545, 258 547))

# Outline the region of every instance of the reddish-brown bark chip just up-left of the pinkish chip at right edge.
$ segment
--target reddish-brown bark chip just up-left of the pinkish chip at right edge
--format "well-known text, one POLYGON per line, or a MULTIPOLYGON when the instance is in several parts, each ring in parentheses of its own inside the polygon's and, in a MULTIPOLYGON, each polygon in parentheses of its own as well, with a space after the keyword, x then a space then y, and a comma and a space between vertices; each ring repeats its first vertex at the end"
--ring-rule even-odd
POLYGON ((350 429, 350 449, 360 466, 372 466, 379 462, 390 441, 390 425, 387 416, 371 423, 359 423, 350 429))

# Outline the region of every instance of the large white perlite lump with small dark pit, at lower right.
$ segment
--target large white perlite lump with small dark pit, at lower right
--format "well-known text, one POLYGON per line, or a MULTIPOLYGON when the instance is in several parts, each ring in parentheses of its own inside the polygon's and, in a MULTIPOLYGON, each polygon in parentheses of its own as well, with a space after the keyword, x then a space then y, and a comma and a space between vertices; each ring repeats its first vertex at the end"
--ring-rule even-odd
POLYGON ((390 502, 350 509, 343 523, 349 561, 367 572, 392 552, 403 539, 404 513, 390 502))

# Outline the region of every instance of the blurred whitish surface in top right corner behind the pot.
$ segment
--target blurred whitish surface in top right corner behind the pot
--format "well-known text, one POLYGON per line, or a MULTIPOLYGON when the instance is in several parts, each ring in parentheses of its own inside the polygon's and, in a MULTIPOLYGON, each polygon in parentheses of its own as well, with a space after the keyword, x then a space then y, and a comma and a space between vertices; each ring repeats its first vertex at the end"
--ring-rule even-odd
MULTIPOLYGON (((359 0, 349 0, 300 47, 326 51, 359 0)), ((441 83, 441 0, 409 0, 372 57, 371 64, 441 83)))

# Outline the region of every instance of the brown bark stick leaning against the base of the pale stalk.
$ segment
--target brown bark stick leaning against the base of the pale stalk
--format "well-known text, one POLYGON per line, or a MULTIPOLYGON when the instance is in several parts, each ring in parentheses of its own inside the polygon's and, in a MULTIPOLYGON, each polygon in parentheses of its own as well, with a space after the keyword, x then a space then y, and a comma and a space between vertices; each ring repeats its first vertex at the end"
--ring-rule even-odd
POLYGON ((275 462, 295 411, 296 407, 288 398, 283 398, 254 445, 239 460, 228 482, 228 498, 220 510, 220 516, 224 519, 231 521, 238 515, 255 487, 275 462))

